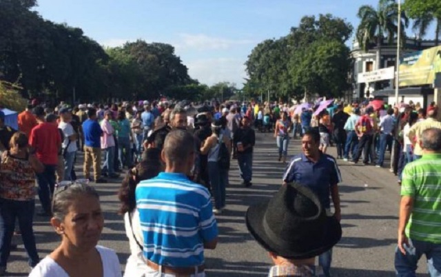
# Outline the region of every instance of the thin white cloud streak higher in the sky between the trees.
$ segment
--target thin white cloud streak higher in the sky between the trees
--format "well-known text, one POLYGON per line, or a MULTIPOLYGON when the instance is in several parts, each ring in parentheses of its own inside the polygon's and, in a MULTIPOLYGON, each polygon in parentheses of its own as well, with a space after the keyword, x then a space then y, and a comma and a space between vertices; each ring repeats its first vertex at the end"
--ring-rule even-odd
POLYGON ((249 39, 226 39, 220 37, 209 37, 206 34, 179 34, 179 41, 176 48, 195 49, 195 50, 226 50, 234 45, 244 45, 254 43, 249 39))

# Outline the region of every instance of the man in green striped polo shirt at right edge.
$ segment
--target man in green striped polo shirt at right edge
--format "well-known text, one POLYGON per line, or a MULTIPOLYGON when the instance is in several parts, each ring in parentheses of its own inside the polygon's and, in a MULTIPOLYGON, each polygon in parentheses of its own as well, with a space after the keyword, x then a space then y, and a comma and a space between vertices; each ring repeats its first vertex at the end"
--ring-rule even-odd
POLYGON ((441 276, 441 129, 420 137, 422 158, 402 172, 397 276, 416 276, 418 260, 427 257, 431 276, 441 276))

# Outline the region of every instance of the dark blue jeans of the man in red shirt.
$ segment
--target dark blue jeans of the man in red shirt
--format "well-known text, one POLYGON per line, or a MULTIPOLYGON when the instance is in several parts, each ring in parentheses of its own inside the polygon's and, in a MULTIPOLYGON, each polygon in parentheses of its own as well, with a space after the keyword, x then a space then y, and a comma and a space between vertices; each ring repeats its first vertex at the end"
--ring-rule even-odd
POLYGON ((44 165, 44 170, 37 173, 37 184, 39 185, 39 198, 41 207, 50 214, 50 196, 55 188, 55 170, 57 165, 44 165))

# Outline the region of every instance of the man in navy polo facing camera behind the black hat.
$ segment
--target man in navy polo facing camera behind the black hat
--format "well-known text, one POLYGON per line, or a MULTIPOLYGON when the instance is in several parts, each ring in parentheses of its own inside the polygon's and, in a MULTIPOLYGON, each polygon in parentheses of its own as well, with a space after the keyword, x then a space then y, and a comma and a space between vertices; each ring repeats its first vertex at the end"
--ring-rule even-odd
MULTIPOLYGON (((292 158, 285 174, 284 183, 296 182, 309 187, 320 199, 320 203, 331 215, 331 203, 329 196, 334 203, 334 214, 340 221, 340 196, 338 195, 338 183, 340 183, 340 170, 336 160, 327 154, 322 154, 320 146, 320 134, 316 130, 308 130, 302 137, 302 154, 292 158), (331 195, 329 195, 331 194, 331 195)), ((323 268, 326 277, 330 276, 332 260, 332 249, 318 258, 319 265, 323 268)))

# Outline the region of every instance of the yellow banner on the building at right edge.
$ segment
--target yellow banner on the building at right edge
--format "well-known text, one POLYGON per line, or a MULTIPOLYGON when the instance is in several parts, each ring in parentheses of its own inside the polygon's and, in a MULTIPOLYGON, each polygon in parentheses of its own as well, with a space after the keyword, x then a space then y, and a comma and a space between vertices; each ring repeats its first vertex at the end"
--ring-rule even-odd
POLYGON ((431 85, 441 72, 441 46, 405 54, 400 59, 400 87, 431 85))

